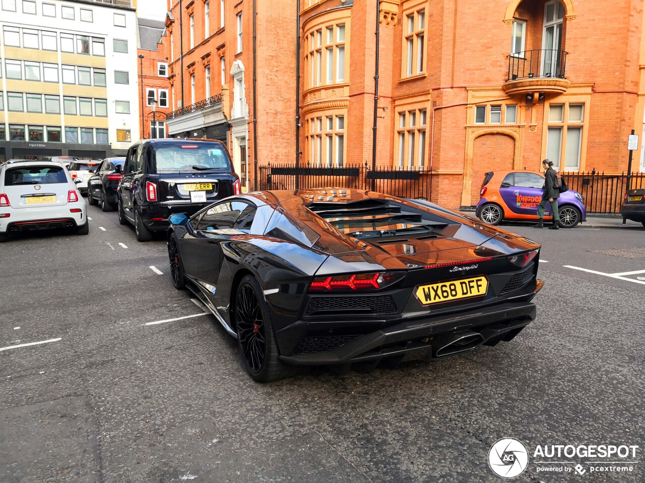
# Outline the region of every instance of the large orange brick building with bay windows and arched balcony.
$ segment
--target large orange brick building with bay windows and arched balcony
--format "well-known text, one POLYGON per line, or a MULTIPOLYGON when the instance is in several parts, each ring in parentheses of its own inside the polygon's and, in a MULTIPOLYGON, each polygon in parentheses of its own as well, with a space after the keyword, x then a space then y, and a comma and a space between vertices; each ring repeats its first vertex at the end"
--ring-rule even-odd
POLYGON ((372 160, 377 19, 377 162, 432 169, 434 201, 471 205, 484 171, 546 157, 623 171, 642 134, 642 0, 255 4, 255 43, 250 0, 169 1, 164 37, 168 132, 225 139, 248 189, 257 164, 372 160))

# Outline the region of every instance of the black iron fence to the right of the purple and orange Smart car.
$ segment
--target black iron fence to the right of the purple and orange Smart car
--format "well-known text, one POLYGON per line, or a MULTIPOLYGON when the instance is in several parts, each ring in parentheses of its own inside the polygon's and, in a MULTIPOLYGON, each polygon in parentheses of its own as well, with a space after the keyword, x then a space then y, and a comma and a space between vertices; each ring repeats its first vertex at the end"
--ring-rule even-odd
POLYGON ((645 188, 645 173, 628 176, 628 173, 609 174, 594 169, 565 172, 562 177, 569 189, 582 194, 589 213, 619 213, 628 189, 645 188))

